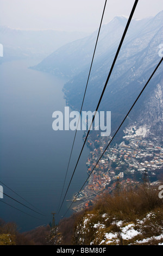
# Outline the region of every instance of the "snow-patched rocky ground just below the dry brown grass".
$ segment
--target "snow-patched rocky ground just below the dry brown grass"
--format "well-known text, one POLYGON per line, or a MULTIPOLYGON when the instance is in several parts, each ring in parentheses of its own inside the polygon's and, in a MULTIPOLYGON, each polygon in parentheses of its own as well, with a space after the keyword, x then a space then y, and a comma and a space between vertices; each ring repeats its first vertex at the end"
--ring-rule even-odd
POLYGON ((93 214, 85 214, 76 227, 74 241, 76 245, 163 245, 161 214, 160 210, 151 211, 133 222, 115 217, 109 225, 108 214, 101 215, 99 221, 94 221, 93 214))

